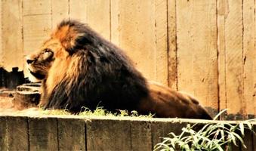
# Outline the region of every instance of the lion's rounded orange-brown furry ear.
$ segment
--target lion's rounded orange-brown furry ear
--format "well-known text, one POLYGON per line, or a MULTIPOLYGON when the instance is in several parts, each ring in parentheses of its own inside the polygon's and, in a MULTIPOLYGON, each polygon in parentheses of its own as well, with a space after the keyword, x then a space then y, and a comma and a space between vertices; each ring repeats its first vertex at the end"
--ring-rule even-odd
POLYGON ((63 48, 67 51, 71 51, 76 45, 76 39, 79 37, 79 33, 76 32, 74 26, 65 25, 58 26, 57 29, 51 35, 54 39, 59 39, 63 48))

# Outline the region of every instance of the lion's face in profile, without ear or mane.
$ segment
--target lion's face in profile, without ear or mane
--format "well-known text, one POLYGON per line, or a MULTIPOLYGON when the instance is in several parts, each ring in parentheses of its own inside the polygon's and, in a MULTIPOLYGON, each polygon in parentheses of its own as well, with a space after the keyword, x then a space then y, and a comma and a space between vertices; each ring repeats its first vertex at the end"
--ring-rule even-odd
POLYGON ((48 76, 48 71, 57 55, 57 50, 61 49, 60 42, 54 39, 49 39, 42 45, 39 51, 26 56, 26 65, 29 70, 29 80, 38 82, 48 76))

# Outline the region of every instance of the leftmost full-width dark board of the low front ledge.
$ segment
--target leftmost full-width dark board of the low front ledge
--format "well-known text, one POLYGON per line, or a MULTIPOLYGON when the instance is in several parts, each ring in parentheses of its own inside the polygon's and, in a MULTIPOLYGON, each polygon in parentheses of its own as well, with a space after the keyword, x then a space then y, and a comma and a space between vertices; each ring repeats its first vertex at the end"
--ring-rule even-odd
POLYGON ((26 117, 6 117, 8 150, 29 150, 26 117))

